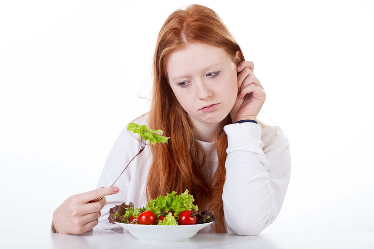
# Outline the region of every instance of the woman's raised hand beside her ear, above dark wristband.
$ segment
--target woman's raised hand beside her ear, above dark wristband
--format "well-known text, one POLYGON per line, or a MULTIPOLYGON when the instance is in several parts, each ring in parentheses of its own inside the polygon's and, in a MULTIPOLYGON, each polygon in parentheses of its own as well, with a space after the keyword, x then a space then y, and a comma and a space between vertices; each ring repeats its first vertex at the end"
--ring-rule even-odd
POLYGON ((244 119, 255 120, 265 103, 266 93, 253 74, 253 62, 243 61, 236 68, 240 73, 237 76, 238 95, 230 112, 232 123, 244 119))

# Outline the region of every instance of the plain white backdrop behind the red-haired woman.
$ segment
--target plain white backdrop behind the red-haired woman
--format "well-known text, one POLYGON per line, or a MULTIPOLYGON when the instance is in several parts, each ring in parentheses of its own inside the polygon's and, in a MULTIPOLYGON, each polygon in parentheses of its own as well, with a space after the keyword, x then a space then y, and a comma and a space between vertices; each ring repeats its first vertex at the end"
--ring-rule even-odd
POLYGON ((48 232, 60 203, 96 188, 120 131, 149 108, 163 22, 193 3, 254 62, 259 118, 291 144, 286 198, 263 233, 374 231, 374 7, 315 0, 1 1, 0 231, 48 232))

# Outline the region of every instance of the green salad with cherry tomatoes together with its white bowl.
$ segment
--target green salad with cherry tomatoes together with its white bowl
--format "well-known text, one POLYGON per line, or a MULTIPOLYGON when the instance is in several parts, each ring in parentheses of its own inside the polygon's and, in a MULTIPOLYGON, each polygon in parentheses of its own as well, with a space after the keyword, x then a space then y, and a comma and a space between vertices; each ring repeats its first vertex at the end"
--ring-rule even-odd
POLYGON ((213 213, 200 210, 188 194, 166 193, 151 199, 145 207, 135 208, 130 202, 116 205, 109 211, 108 220, 128 230, 138 239, 152 242, 185 241, 199 230, 217 222, 213 213))

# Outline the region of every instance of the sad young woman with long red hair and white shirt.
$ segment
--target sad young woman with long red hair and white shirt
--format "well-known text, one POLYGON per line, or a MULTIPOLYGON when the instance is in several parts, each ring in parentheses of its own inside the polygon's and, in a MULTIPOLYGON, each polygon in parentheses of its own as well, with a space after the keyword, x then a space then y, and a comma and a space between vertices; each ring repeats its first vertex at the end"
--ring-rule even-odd
MULTIPOLYGON (((218 219, 200 232, 257 235, 269 226, 283 204, 291 160, 281 129, 257 120, 266 94, 253 67, 213 10, 190 5, 172 13, 158 35, 150 112, 134 120, 163 130, 168 143, 148 144, 116 187, 69 197, 55 210, 52 229, 127 232, 108 222, 111 207, 142 207, 185 189, 218 219)), ((139 145, 125 127, 98 186, 110 186, 139 145)))

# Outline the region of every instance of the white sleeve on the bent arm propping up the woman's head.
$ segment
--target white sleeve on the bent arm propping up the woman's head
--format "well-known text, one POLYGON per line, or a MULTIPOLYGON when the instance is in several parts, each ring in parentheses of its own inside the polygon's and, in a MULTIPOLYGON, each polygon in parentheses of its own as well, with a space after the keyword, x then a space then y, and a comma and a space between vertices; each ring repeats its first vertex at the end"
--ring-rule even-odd
POLYGON ((260 125, 224 127, 228 138, 224 217, 238 235, 258 235, 275 220, 284 201, 291 173, 289 142, 279 127, 271 128, 276 136, 263 150, 260 125))

